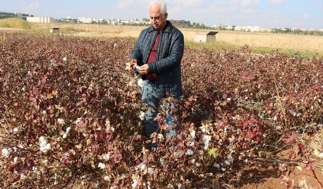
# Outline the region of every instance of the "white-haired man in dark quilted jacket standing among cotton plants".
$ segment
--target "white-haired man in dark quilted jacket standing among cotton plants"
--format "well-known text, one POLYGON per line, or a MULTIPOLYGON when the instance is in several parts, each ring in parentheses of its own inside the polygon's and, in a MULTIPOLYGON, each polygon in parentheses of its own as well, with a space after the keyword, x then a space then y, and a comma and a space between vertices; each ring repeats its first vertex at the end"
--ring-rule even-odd
MULTIPOLYGON (((174 96, 179 100, 183 95, 181 81, 181 60, 184 52, 184 36, 171 22, 167 20, 167 6, 163 1, 154 1, 149 5, 151 26, 141 31, 131 52, 131 70, 136 68, 138 77, 144 80, 141 99, 148 104, 145 112, 144 128, 147 137, 158 133, 157 107, 163 98, 174 96), (138 66, 137 66, 138 65, 138 66)), ((169 107, 168 107, 169 108, 169 107)), ((177 108, 175 104, 171 108, 177 108)), ((178 121, 170 113, 165 120, 169 133, 176 135, 178 121)), ((156 143, 149 143, 149 148, 155 148, 156 143)))

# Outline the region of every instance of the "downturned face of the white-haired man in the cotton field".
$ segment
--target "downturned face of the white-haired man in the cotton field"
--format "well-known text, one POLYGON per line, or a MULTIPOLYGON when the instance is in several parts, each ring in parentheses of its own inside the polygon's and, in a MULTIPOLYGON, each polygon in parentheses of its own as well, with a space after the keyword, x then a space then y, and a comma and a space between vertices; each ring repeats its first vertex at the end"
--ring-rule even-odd
POLYGON ((156 30, 161 30, 165 27, 167 16, 167 13, 164 16, 160 13, 160 6, 149 8, 150 23, 156 30))

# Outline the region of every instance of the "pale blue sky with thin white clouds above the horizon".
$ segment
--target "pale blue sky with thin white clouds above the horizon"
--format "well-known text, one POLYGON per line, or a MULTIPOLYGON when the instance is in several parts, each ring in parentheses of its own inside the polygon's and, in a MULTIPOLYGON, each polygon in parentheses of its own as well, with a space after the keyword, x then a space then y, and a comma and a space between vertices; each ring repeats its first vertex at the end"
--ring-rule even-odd
MULTIPOLYGON (((0 0, 0 11, 58 18, 149 18, 151 0, 0 0)), ((323 0, 165 0, 168 20, 263 28, 323 29, 323 0)))

